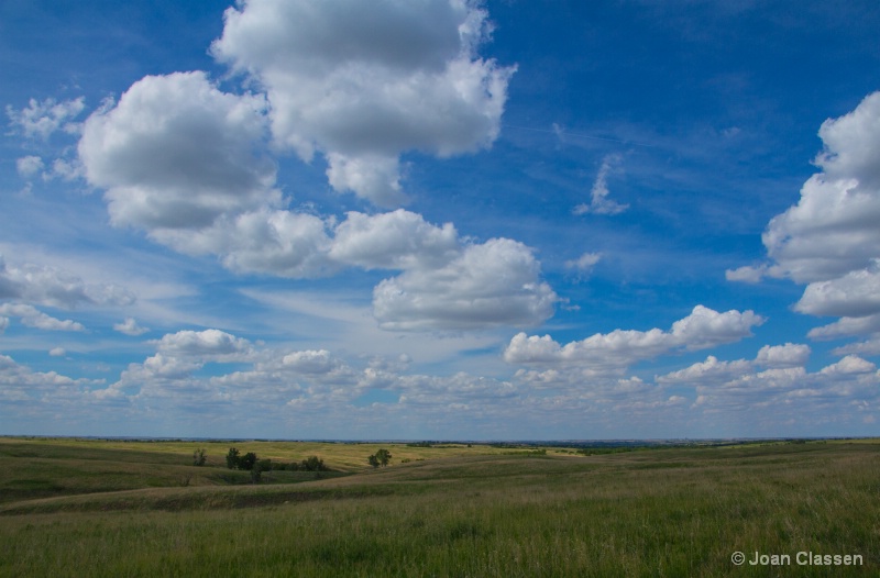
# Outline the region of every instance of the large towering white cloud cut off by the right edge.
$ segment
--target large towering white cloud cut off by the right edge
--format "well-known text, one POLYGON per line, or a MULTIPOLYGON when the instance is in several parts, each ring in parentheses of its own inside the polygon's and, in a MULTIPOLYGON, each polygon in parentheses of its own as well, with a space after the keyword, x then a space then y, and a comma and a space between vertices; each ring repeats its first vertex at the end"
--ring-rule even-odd
MULTIPOLYGON (((762 240, 771 264, 727 271, 730 280, 761 276, 809 284, 795 309, 813 315, 867 318, 880 313, 880 92, 820 131, 822 173, 798 203, 774 216, 762 240)), ((824 331, 825 336, 833 330, 824 331)))

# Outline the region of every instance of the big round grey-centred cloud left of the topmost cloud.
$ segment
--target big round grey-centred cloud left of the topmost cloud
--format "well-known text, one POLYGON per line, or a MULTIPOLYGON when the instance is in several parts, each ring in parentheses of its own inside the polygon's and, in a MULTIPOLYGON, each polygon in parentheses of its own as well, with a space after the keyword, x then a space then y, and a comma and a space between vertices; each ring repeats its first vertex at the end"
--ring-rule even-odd
POLYGON ((262 153, 266 102, 224 93, 205 73, 147 76, 85 124, 86 178, 107 190, 116 225, 152 235, 210 226, 280 202, 262 153))

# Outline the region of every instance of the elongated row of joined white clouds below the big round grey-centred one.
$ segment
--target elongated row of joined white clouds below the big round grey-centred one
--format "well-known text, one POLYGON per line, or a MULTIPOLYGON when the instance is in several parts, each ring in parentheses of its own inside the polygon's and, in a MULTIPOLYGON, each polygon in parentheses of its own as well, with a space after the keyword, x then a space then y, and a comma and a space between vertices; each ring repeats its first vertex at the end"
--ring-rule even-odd
POLYGON ((279 210, 218 223, 174 234, 186 236, 190 247, 219 254, 240 273, 308 278, 345 267, 403 271, 373 291, 374 316, 386 330, 529 326, 550 318, 558 301, 524 244, 507 238, 466 244, 451 223, 431 224, 403 209, 352 211, 336 225, 279 210))

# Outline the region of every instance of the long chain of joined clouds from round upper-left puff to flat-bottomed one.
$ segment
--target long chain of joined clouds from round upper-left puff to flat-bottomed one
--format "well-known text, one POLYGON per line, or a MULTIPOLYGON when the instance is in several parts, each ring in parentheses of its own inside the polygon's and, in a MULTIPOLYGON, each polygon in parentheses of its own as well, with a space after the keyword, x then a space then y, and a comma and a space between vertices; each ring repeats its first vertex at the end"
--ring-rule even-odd
POLYGON ((184 253, 218 255, 234 271, 403 270, 374 291, 386 329, 532 325, 552 314, 556 293, 520 243, 462 246, 451 224, 403 210, 350 212, 334 225, 276 208, 274 165, 252 154, 263 105, 220 92, 202 73, 146 77, 86 121, 79 152, 87 178, 107 189, 116 224, 142 227, 184 253))

